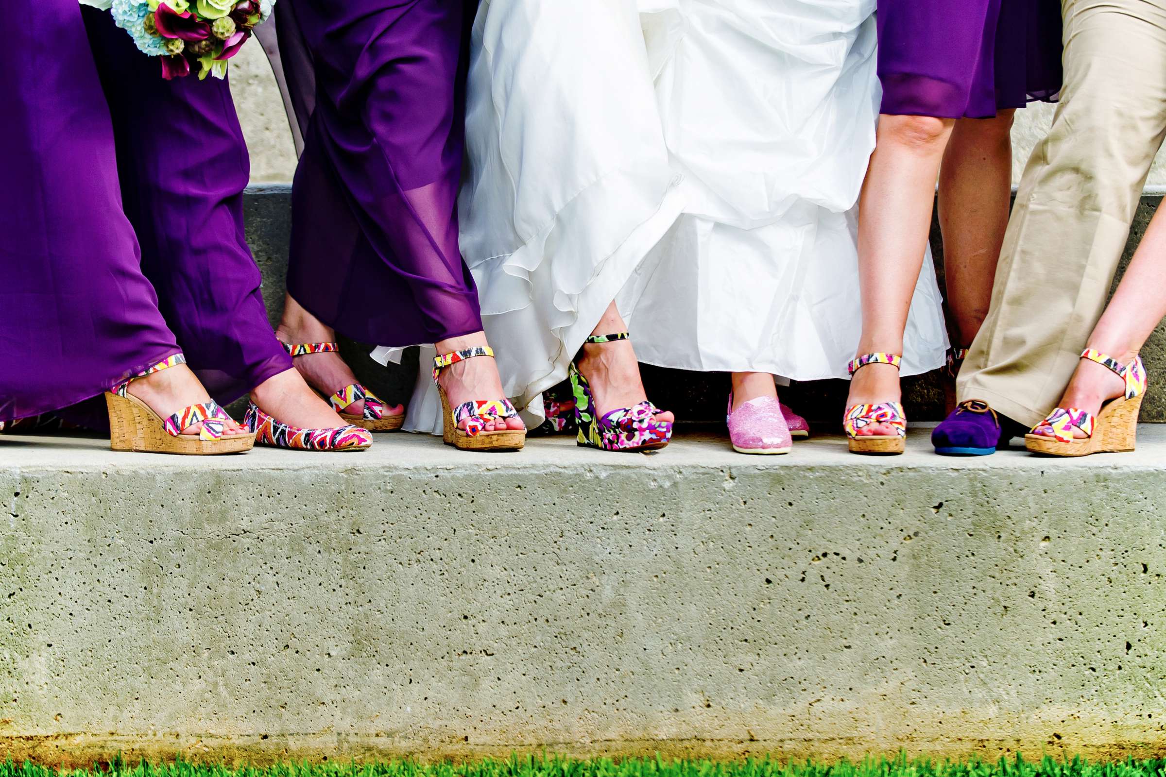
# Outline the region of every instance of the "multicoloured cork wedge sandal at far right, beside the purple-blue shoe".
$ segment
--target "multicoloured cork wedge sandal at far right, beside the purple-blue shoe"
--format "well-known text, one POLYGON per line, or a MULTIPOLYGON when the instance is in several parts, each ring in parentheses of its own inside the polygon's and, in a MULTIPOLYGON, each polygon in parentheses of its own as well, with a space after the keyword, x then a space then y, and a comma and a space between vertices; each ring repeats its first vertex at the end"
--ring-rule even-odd
POLYGON ((1146 368, 1142 356, 1122 365, 1100 351, 1086 348, 1081 358, 1116 373, 1125 381, 1125 391, 1102 404, 1096 416, 1076 408, 1055 408, 1032 432, 1025 435, 1025 447, 1033 453, 1075 457, 1133 450, 1138 436, 1138 412, 1146 393, 1146 368), (1084 437, 1076 437, 1074 430, 1080 430, 1084 437))

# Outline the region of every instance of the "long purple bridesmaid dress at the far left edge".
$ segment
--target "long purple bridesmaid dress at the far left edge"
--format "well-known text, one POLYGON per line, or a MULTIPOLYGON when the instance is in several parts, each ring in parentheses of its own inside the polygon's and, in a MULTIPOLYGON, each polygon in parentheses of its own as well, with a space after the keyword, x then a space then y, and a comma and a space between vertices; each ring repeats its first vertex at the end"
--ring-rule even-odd
POLYGON ((97 396, 178 353, 121 211, 77 0, 0 13, 0 421, 97 396))

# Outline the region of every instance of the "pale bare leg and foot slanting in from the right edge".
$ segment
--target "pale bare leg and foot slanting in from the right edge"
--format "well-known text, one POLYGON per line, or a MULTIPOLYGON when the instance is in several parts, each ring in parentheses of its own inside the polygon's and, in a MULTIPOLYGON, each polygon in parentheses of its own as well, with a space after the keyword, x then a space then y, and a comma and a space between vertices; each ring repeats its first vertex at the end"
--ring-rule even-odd
MULTIPOLYGON (((1154 213, 1146 234, 1133 254, 1122 283, 1102 313, 1101 320, 1089 335, 1089 347, 1130 363, 1145 345, 1154 327, 1166 317, 1166 216, 1154 213)), ((1082 359, 1069 380, 1061 401, 1061 408, 1076 408, 1093 415, 1101 411, 1107 401, 1119 397, 1125 391, 1124 381, 1112 370, 1096 362, 1082 359)), ((1075 437, 1084 432, 1074 429, 1075 437)), ((1037 430, 1039 435, 1052 436, 1047 428, 1037 430)))

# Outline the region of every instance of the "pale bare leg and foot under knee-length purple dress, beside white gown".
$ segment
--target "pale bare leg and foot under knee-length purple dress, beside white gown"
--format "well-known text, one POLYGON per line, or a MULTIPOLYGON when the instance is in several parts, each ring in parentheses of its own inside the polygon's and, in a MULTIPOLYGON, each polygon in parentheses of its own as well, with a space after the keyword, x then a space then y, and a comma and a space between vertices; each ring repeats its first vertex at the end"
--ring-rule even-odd
MULTIPOLYGON (((911 297, 927 249, 935 178, 954 125, 932 116, 879 116, 878 143, 858 205, 858 353, 902 353, 911 297)), ((850 382, 848 405, 899 401, 899 370, 868 365, 850 382)), ((893 435, 871 424, 869 435, 893 435)))

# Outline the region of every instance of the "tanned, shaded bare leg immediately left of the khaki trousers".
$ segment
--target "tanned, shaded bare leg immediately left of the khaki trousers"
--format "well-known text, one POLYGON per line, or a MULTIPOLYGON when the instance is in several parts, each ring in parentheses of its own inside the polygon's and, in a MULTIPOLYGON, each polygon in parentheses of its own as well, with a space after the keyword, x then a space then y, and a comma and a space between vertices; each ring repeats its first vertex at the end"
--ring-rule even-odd
POLYGON ((1012 118, 960 119, 940 167, 940 226, 956 347, 968 347, 988 316, 996 261, 1009 225, 1012 118))

